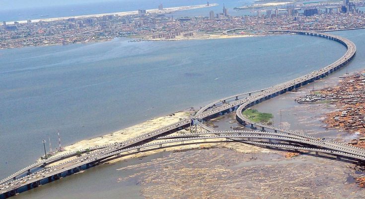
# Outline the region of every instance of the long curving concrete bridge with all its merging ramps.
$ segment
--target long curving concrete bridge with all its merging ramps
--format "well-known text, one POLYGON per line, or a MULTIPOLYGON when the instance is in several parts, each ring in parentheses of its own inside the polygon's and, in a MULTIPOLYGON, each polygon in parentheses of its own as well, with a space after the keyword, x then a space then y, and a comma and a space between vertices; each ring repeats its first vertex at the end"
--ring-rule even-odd
MULTIPOLYGON (((232 31, 234 30, 225 31, 225 34, 230 34, 232 31)), ((111 159, 149 150, 187 144, 242 142, 275 149, 313 151, 316 155, 321 153, 328 156, 334 156, 337 159, 345 158, 350 161, 362 163, 362 161, 365 160, 365 150, 363 149, 333 141, 320 140, 306 134, 256 123, 242 115, 242 111, 244 109, 260 103, 263 100, 271 99, 275 96, 284 94, 288 91, 328 76, 330 73, 340 69, 350 62, 356 53, 355 44, 340 36, 308 31, 276 30, 273 32, 288 32, 327 38, 343 44, 347 48, 347 51, 336 62, 318 71, 314 71, 270 88, 241 93, 216 100, 202 107, 195 115, 197 118, 208 120, 225 112, 235 110, 237 115, 236 119, 241 124, 248 125, 250 128, 255 130, 259 128, 260 131, 214 131, 214 129, 203 125, 203 128, 207 130, 205 133, 167 136, 168 134, 178 131, 181 127, 190 126, 190 118, 185 118, 179 122, 141 134, 124 142, 90 148, 90 152, 84 153, 80 157, 73 152, 62 156, 54 156, 32 164, 0 181, 0 183, 2 183, 0 184, 0 198, 14 196, 19 192, 38 187, 41 184, 60 179, 78 172, 81 169, 107 162, 111 159), (69 160, 70 157, 73 158, 69 160), (43 168, 39 171, 37 170, 39 167, 42 168, 60 160, 64 161, 56 166, 43 168)))

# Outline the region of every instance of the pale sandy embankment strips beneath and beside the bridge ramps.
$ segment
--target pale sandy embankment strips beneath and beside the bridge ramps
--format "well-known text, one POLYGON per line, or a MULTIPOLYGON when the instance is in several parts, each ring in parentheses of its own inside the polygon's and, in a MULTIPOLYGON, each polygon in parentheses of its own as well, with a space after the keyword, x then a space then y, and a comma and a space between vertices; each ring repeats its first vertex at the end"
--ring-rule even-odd
MULTIPOLYGON (((148 131, 160 128, 162 126, 166 126, 172 123, 175 123, 177 121, 180 120, 180 118, 186 118, 188 116, 190 116, 191 112, 176 112, 167 116, 163 116, 163 117, 157 117, 151 120, 148 120, 146 122, 143 122, 141 124, 137 124, 125 129, 122 129, 120 131, 111 133, 111 134, 107 134, 104 136, 100 136, 100 137, 96 137, 96 138, 92 138, 92 139, 88 139, 88 140, 82 140, 79 142, 76 142, 73 145, 70 146, 66 146, 65 147, 65 151, 63 152, 59 152, 57 155, 59 154, 65 154, 65 153, 69 153, 69 152, 74 152, 74 151, 81 151, 81 150, 85 150, 87 148, 90 147, 95 147, 95 146, 101 146, 101 145, 105 145, 105 144, 112 144, 112 143, 116 143, 116 142, 122 142, 125 141, 131 137, 135 137, 138 136, 140 134, 146 133, 148 131)), ((203 132, 206 131, 202 128, 198 128, 197 129, 198 132, 203 132)), ((181 135, 181 134, 185 134, 185 133, 190 133, 190 128, 186 128, 186 129, 182 129, 180 131, 177 131, 171 135, 181 135)), ((213 134, 211 134, 213 135, 213 134)), ((215 141, 223 141, 225 139, 223 138, 219 138, 219 139, 214 139, 215 141)), ((210 139, 209 141, 214 141, 212 139, 210 139)), ((150 143, 155 143, 155 142, 160 142, 161 140, 153 140, 150 143)), ((144 157, 144 156, 148 156, 151 154, 155 154, 155 153, 159 153, 162 151, 184 151, 184 150, 191 150, 191 149, 203 149, 203 148, 217 148, 217 147, 224 147, 224 148, 229 148, 231 150, 237 151, 239 153, 269 153, 271 152, 271 150, 266 149, 266 148, 261 148, 261 147, 257 147, 257 146, 253 146, 253 145, 248 145, 248 144, 243 144, 243 143, 204 143, 204 144, 194 144, 196 142, 201 142, 202 140, 196 140, 196 141, 186 141, 185 143, 192 143, 189 145, 183 145, 183 146, 174 146, 174 147, 168 147, 168 148, 163 148, 163 149, 156 149, 156 150, 152 150, 152 151, 146 151, 146 152, 142 152, 142 153, 138 153, 138 154, 132 154, 132 155, 128 155, 129 153, 123 153, 121 158, 118 159, 114 159, 112 161, 109 161, 106 164, 111 164, 111 163, 115 163, 121 160, 126 160, 126 159, 130 159, 130 158, 139 158, 139 157, 144 157)), ((170 144, 164 144, 163 146, 171 146, 177 144, 175 143, 170 143, 170 144)), ((156 147, 149 147, 149 148, 156 148, 156 147)), ((142 150, 146 150, 148 148, 143 148, 142 150)), ((134 151, 133 151, 134 152, 134 151)), ((76 157, 72 157, 72 158, 68 158, 59 162, 56 162, 54 164, 50 164, 48 165, 48 167, 52 167, 58 164, 61 164, 63 162, 72 160, 76 157)))

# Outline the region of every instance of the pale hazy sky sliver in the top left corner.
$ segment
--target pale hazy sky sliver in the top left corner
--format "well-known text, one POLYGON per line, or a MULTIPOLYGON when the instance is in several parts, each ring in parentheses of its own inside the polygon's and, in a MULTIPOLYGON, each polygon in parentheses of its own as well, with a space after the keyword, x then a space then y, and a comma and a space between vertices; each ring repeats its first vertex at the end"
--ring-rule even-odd
POLYGON ((105 1, 123 1, 123 0, 0 0, 0 9, 14 9, 14 8, 31 8, 43 7, 53 5, 67 5, 67 4, 81 4, 81 3, 95 3, 105 1))

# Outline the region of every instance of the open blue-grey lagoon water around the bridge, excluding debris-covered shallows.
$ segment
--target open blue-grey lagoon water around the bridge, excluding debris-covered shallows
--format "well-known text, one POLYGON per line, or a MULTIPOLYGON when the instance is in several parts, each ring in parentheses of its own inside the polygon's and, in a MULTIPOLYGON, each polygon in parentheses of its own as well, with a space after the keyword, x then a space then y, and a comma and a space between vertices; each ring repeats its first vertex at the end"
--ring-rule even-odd
MULTIPOLYGON (((359 70, 365 59, 365 30, 334 34, 357 44, 358 54, 348 68, 359 70)), ((117 38, 0 50, 0 178, 33 163, 42 155, 41 141, 48 136, 56 147, 57 130, 63 144, 69 145, 288 81, 334 62, 345 51, 334 41, 303 35, 174 42, 117 38)), ((15 198, 39 198, 47 193, 60 199, 96 199, 98 195, 86 194, 86 190, 103 190, 112 184, 113 196, 126 194, 123 184, 120 189, 114 185, 116 167, 93 168, 100 171, 54 182, 57 188, 51 193, 46 187, 53 183, 15 198), (66 187, 80 183, 83 186, 70 195, 60 195, 66 187), (86 195, 77 197, 79 192, 86 195)), ((132 198, 139 197, 138 191, 134 194, 132 198)))

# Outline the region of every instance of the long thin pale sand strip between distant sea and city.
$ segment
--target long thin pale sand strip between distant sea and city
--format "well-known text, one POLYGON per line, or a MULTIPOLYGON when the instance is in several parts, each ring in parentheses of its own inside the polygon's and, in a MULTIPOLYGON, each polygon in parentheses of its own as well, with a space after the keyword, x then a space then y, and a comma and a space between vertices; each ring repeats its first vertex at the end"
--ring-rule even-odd
MULTIPOLYGON (((217 6, 218 3, 211 3, 210 5, 189 5, 189 6, 180 6, 180 7, 166 7, 162 10, 159 9, 147 9, 146 12, 155 12, 157 14, 164 14, 169 12, 181 11, 181 10, 188 10, 188 9, 197 9, 203 7, 212 7, 217 6)), ((88 14, 88 15, 79 15, 79 16, 65 16, 65 17, 54 17, 54 18, 40 18, 40 19, 32 19, 32 22, 39 22, 39 21, 56 21, 56 20, 65 20, 68 18, 90 18, 90 17, 101 17, 104 15, 119 15, 119 16, 126 16, 130 14, 138 14, 138 10, 135 11, 124 11, 124 12, 111 12, 111 13, 101 13, 101 14, 88 14)), ((27 20, 17 21, 19 23, 26 23, 27 20)), ((7 21, 7 23, 14 23, 14 21, 7 21)))

